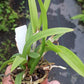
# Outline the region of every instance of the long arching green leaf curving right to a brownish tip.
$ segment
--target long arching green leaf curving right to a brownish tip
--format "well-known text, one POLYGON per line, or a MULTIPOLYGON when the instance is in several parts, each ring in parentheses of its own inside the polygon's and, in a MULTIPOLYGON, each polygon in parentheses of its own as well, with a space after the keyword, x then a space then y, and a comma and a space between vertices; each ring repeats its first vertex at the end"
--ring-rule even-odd
POLYGON ((45 31, 41 31, 37 34, 35 34, 34 36, 32 36, 32 38, 30 38, 23 49, 23 53, 22 53, 22 57, 26 58, 27 54, 30 53, 30 47, 32 45, 32 43, 34 43, 35 41, 42 39, 44 37, 50 36, 50 35, 55 35, 55 34, 61 34, 61 33, 67 33, 67 32, 71 32, 73 31, 73 29, 71 28, 52 28, 52 29, 47 29, 45 31))

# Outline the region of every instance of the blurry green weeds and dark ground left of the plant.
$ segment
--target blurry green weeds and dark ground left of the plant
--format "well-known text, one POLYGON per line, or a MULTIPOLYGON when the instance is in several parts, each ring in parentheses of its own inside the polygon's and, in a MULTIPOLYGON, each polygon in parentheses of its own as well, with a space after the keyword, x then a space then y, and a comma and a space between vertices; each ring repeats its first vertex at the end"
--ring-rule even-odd
MULTIPOLYGON (((0 0, 0 66, 17 52, 14 29, 26 24, 26 18, 29 19, 29 11, 26 11, 25 0, 20 0, 19 3, 0 0)), ((4 73, 4 70, 0 73, 4 73)))

